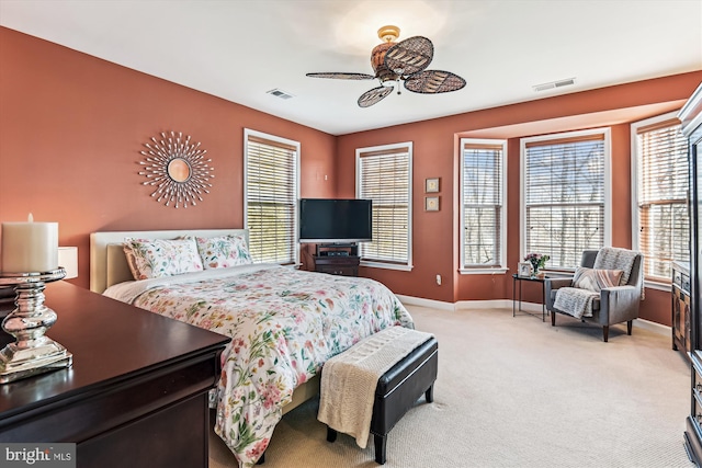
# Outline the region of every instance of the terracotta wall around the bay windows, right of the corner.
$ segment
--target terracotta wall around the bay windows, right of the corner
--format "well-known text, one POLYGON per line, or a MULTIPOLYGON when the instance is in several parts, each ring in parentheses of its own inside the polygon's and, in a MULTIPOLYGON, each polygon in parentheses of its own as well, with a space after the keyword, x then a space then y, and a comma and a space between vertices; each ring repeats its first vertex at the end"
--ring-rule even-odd
MULTIPOLYGON (((522 137, 608 126, 612 138, 612 244, 631 248, 630 123, 679 109, 702 81, 702 71, 553 96, 501 107, 381 128, 338 138, 338 192, 354 193, 355 149, 414 141, 414 270, 362 269, 401 295, 456 303, 510 299, 511 274, 520 261, 520 146, 522 137), (508 139, 507 274, 461 275, 456 231, 457 138, 508 139), (423 210, 423 181, 441 178, 441 212, 423 210), (443 276, 438 286, 434 277, 443 276)), ((427 98, 428 100, 430 98, 427 98)), ((441 98, 438 98, 441 99, 441 98)), ((670 324, 669 293, 647 290, 641 317, 670 324), (667 304, 661 308, 661 304, 667 304)), ((539 289, 524 299, 540 303, 539 289)))

